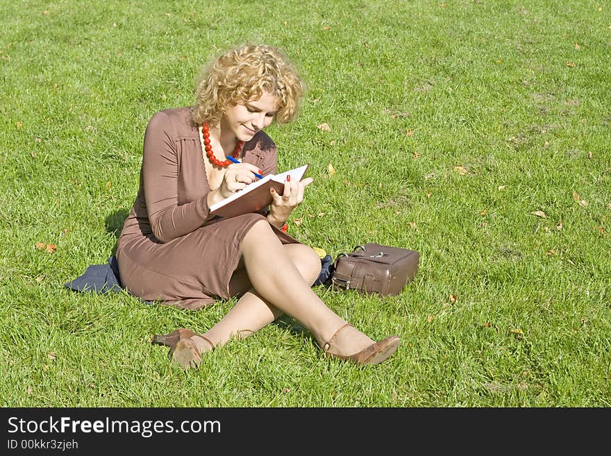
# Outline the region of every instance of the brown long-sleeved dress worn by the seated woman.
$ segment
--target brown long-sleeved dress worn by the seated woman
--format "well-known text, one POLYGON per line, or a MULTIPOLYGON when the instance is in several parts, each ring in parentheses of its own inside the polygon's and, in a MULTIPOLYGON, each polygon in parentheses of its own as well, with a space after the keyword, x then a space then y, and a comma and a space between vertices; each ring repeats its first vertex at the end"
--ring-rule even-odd
MULTIPOLYGON (((190 108, 153 115, 144 134, 140 189, 117 243, 124 287, 145 301, 196 310, 228 299, 240 245, 262 214, 212 219, 199 130, 190 108)), ((242 161, 276 173, 276 145, 262 131, 244 145, 242 161)), ((272 226, 283 244, 298 243, 272 226)))

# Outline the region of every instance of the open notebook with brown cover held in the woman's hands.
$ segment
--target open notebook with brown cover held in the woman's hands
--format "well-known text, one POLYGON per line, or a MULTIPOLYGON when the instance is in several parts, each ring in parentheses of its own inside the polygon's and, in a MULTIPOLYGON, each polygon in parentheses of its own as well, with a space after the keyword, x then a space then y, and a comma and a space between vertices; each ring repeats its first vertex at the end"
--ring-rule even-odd
POLYGON ((295 180, 299 182, 308 166, 310 165, 304 164, 302 167, 281 174, 268 174, 262 179, 246 185, 244 189, 235 192, 228 198, 211 205, 210 214, 221 217, 235 217, 236 215, 259 212, 271 204, 271 194, 269 194, 271 188, 275 189, 278 194, 283 194, 286 176, 291 176, 292 182, 295 180))

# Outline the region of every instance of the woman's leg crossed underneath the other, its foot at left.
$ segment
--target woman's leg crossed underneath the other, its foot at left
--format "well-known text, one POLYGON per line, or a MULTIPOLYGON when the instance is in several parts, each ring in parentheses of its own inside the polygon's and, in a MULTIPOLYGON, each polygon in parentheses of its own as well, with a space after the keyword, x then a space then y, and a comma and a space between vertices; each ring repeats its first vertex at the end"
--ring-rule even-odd
MULTIPOLYGON (((310 287, 320 273, 318 255, 312 248, 301 244, 287 244, 281 247, 290 262, 299 271, 301 280, 310 287)), ((252 288, 243 262, 240 262, 231 278, 229 291, 232 296, 242 296, 219 323, 203 334, 215 346, 226 344, 231 337, 248 337, 284 313, 262 298, 252 288)), ((210 344, 201 337, 194 336, 192 339, 199 351, 209 351, 211 349, 210 344)))

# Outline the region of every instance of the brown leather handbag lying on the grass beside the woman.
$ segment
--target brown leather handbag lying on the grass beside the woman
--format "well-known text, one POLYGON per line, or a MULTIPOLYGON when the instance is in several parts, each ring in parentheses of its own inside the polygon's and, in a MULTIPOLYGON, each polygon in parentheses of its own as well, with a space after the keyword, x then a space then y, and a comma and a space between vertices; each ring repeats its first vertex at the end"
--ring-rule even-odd
POLYGON ((418 271, 419 253, 407 248, 365 244, 335 260, 334 289, 355 289, 381 296, 399 294, 418 271))

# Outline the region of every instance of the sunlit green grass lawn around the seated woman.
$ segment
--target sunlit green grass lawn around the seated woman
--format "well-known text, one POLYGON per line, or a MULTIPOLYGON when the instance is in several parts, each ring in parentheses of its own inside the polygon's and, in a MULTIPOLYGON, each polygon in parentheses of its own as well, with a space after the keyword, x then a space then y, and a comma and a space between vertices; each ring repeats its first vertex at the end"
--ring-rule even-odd
POLYGON ((0 405, 611 405, 605 2, 0 12, 0 405), (300 117, 268 130, 279 171, 308 162, 315 177, 290 233, 334 257, 365 242, 421 253, 399 296, 315 289, 371 337, 401 336, 383 364, 326 360, 283 318, 185 373, 151 335, 206 330, 233 303, 187 312, 63 287, 114 253, 147 121, 190 105, 203 62, 242 42, 282 47, 308 84, 300 117))

